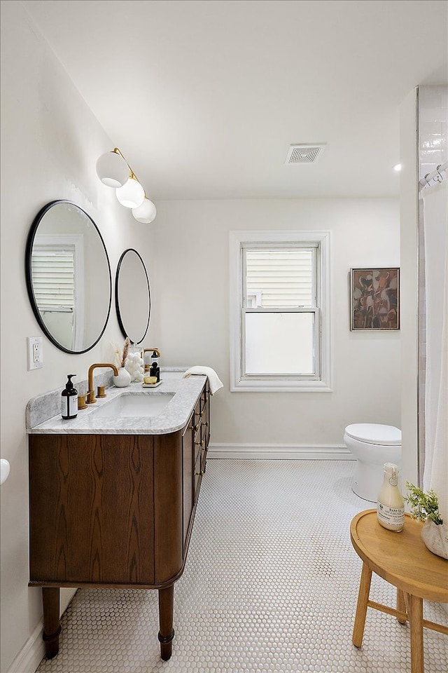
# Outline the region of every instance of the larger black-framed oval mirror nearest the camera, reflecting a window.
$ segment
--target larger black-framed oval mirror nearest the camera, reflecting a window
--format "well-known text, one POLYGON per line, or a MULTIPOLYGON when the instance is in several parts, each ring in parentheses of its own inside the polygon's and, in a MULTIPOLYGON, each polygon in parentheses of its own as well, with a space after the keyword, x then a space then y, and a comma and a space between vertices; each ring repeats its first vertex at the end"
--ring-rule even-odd
POLYGON ((76 203, 55 200, 36 215, 25 251, 29 301, 52 344, 85 353, 111 312, 109 256, 97 225, 76 203))

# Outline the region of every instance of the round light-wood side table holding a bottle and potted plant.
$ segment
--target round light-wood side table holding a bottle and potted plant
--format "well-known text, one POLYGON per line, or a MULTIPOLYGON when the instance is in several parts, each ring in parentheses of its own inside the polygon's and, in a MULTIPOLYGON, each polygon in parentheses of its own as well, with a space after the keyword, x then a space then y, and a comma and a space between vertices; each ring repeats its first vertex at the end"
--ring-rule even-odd
POLYGON ((400 533, 388 531, 377 522, 376 510, 360 512, 350 524, 351 543, 363 559, 353 645, 363 643, 367 607, 395 616, 400 624, 409 621, 411 673, 424 673, 423 627, 448 635, 447 627, 423 619, 423 599, 448 602, 448 561, 426 548, 422 525, 407 514, 400 533), (397 587, 396 610, 369 600, 372 572, 397 587))

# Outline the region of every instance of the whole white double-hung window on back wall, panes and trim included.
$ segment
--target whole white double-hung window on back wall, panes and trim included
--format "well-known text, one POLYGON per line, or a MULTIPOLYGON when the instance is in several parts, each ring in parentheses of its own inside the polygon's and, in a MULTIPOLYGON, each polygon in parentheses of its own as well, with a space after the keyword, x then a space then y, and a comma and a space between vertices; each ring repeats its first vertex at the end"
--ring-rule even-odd
POLYGON ((231 390, 330 390, 329 240, 230 233, 231 390))

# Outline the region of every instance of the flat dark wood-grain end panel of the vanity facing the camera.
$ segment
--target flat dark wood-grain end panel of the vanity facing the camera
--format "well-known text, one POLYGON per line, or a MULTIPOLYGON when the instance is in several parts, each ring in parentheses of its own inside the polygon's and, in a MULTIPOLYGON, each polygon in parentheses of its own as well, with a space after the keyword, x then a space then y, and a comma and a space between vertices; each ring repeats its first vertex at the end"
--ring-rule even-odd
POLYGON ((31 581, 152 584, 153 440, 31 435, 31 581))

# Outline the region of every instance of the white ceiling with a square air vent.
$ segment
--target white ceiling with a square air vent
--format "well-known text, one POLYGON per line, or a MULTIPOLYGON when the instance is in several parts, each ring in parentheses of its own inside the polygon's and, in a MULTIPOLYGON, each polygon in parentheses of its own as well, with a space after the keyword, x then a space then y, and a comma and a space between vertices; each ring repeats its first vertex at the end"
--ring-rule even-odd
POLYGON ((25 4, 156 204, 395 196, 400 102, 448 79, 445 0, 25 4))

